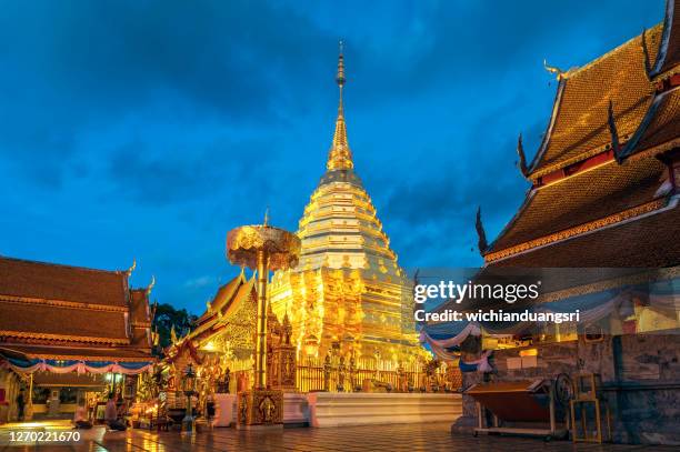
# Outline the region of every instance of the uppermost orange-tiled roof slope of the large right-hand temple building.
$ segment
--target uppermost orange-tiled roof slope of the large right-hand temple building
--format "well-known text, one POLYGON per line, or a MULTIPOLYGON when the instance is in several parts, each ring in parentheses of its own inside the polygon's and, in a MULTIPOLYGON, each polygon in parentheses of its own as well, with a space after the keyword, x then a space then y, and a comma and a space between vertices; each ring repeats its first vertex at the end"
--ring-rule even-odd
MULTIPOLYGON (((660 26, 649 30, 646 33, 648 49, 657 49, 660 38, 660 26)), ((650 59, 656 58, 656 52, 650 53, 650 59)), ((552 118, 530 167, 532 180, 584 160, 610 145, 610 102, 620 138, 628 140, 642 121, 654 92, 644 60, 642 36, 639 36, 583 68, 560 77, 552 118)))

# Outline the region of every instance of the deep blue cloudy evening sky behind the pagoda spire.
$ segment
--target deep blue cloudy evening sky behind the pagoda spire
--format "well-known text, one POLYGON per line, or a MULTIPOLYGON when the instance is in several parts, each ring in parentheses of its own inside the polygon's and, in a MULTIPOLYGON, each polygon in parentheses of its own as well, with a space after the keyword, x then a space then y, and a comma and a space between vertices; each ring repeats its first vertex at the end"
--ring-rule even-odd
POLYGON ((126 269, 202 312, 224 238, 297 229, 324 171, 346 40, 356 169, 400 263, 470 267, 528 188, 568 69, 663 17, 663 0, 6 1, 0 254, 126 269))

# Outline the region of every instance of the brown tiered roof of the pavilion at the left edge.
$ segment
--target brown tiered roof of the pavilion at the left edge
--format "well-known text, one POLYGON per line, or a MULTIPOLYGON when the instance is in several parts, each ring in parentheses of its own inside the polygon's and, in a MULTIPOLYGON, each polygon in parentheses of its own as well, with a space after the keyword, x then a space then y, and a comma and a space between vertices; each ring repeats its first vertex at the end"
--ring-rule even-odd
POLYGON ((151 359, 150 288, 129 289, 130 271, 0 258, 0 343, 41 356, 151 359))

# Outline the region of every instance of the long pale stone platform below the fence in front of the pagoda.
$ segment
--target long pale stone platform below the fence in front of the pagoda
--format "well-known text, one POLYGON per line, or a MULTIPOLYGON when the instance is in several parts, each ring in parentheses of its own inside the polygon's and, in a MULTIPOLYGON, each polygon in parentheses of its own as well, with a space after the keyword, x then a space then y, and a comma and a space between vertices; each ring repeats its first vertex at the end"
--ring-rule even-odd
POLYGON ((460 394, 314 392, 307 400, 309 425, 319 428, 453 422, 462 414, 460 394))

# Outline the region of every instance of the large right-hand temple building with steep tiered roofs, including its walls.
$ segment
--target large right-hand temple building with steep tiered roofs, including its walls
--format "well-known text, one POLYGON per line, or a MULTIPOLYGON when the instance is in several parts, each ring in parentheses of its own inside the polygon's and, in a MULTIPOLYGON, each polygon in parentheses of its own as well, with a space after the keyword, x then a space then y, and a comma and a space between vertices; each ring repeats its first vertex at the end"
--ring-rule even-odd
MULTIPOLYGON (((529 334, 522 324, 470 324, 448 334, 451 325, 426 325, 422 337, 441 354, 460 346, 461 365, 480 362, 467 345, 478 344, 478 358, 487 349, 481 361, 490 365, 471 365, 479 372, 466 373, 463 386, 487 381, 500 394, 488 396, 489 405, 502 396, 511 403, 502 388, 587 375, 597 392, 574 395, 577 386, 563 384, 558 408, 561 402, 568 413, 570 396, 597 399, 611 413, 613 441, 678 444, 680 1, 668 1, 663 23, 600 58, 569 71, 548 69, 558 88, 530 163, 521 135, 518 142, 520 172, 530 184, 524 202, 491 243, 478 213, 480 274, 580 269, 563 273, 579 278, 558 278, 561 290, 542 293, 528 309, 580 308, 581 321, 527 325, 529 334), (468 339, 480 333, 481 342, 468 339)), ((471 398, 463 404, 454 430, 481 419, 471 398)), ((520 403, 506 413, 526 414, 520 403)), ((572 434, 574 428, 581 429, 572 422, 572 434)), ((590 440, 607 438, 606 430, 590 440)))

